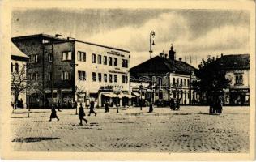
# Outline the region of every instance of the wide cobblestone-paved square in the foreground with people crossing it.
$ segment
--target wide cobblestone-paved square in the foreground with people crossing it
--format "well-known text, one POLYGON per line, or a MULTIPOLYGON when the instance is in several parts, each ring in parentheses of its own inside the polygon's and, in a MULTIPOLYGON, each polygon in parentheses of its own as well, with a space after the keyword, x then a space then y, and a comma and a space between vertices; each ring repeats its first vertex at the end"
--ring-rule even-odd
POLYGON ((59 122, 48 122, 49 109, 32 109, 30 117, 19 109, 10 140, 15 151, 249 152, 249 107, 224 107, 221 115, 208 115, 208 107, 147 110, 96 109, 79 126, 75 109, 57 112, 59 122))

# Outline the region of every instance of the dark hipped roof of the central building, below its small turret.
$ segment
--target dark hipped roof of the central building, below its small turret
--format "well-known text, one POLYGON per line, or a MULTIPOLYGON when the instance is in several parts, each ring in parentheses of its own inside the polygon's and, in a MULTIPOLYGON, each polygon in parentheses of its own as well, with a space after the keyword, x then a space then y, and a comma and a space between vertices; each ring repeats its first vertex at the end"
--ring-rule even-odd
POLYGON ((173 72, 177 74, 190 74, 191 71, 194 71, 195 68, 190 66, 186 62, 177 61, 177 60, 169 60, 168 58, 156 56, 139 64, 138 66, 134 66, 130 69, 131 75, 136 75, 137 73, 167 73, 173 72))

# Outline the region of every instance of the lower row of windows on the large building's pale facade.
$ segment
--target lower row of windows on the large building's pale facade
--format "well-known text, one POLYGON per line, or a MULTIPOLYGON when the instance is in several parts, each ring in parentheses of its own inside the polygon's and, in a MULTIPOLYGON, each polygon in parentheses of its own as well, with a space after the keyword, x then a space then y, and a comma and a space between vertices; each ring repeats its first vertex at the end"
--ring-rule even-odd
MULTIPOLYGON (((78 71, 78 76, 79 76, 79 80, 86 80, 86 72, 85 71, 78 71)), ((107 74, 101 74, 98 73, 98 75, 96 75, 96 72, 92 72, 92 81, 96 82, 96 79, 98 80, 98 82, 102 82, 102 80, 107 83, 109 81, 109 83, 117 83, 118 82, 118 77, 117 75, 112 75, 109 74, 109 77, 107 74), (103 77, 103 79, 102 79, 103 77)), ((122 83, 128 83, 128 76, 126 75, 122 75, 122 83)))

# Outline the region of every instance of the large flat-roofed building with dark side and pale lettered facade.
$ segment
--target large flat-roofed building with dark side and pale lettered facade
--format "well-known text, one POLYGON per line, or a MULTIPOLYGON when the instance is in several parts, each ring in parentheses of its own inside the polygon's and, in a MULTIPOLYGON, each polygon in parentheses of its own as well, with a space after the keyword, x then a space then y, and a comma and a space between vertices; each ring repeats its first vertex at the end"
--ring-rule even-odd
POLYGON ((50 105, 52 97, 62 106, 90 99, 102 106, 113 98, 122 105, 131 97, 127 50, 45 34, 13 37, 12 42, 30 58, 27 75, 38 87, 28 96, 32 105, 50 105))

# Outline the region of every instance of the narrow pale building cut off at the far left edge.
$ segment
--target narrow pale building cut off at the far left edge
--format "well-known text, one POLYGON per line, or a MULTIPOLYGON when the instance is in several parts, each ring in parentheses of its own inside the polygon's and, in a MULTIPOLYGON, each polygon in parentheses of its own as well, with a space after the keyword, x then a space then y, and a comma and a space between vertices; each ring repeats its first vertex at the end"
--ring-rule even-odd
POLYGON ((15 45, 11 45, 11 103, 16 108, 26 107, 27 61, 28 56, 22 53, 15 45))

